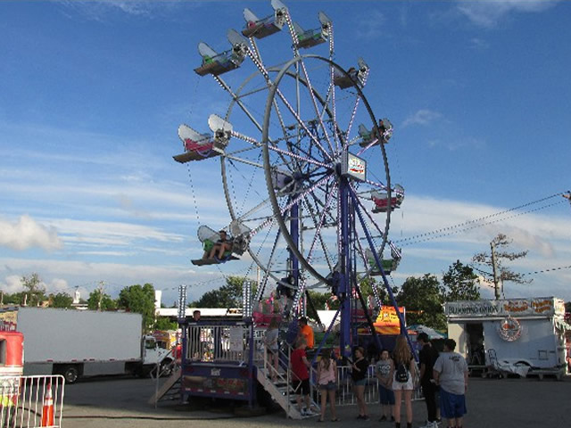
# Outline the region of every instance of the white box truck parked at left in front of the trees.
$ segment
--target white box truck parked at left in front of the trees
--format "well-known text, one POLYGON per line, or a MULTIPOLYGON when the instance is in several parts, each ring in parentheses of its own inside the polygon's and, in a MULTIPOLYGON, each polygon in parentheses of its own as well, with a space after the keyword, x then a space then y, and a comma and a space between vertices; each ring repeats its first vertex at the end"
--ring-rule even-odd
POLYGON ((145 375, 173 360, 143 334, 143 317, 135 313, 15 307, 0 309, 0 329, 24 334, 24 375, 62 374, 68 383, 145 375))

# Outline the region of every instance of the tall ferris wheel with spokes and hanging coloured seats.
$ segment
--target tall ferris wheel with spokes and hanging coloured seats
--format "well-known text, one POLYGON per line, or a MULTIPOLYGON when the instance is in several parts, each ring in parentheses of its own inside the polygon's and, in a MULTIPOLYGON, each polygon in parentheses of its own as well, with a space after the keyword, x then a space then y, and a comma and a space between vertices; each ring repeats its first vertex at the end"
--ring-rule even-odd
MULTIPOLYGON (((334 61, 324 12, 317 29, 304 30, 285 4, 271 5, 263 19, 244 10, 244 29, 228 30, 228 51, 199 45, 194 71, 228 94, 228 110, 209 117, 211 133, 181 126, 185 152, 174 158, 220 161, 233 240, 213 258, 205 248, 194 264, 252 260, 263 273, 254 301, 277 286, 292 313, 310 288, 351 300, 360 279, 396 268, 401 252, 388 232, 404 189, 392 184, 385 151, 393 126, 365 96, 368 64, 356 59, 345 70, 334 61), (233 88, 226 73, 241 73, 241 83, 233 88)), ((208 228, 199 237, 218 240, 208 228)))

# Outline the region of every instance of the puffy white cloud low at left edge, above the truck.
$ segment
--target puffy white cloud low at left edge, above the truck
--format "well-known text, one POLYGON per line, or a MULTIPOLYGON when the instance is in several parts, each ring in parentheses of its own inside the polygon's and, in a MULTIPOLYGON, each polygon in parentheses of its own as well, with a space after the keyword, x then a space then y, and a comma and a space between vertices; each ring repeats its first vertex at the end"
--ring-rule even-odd
POLYGON ((17 251, 34 247, 52 251, 62 248, 62 240, 54 226, 40 225, 23 215, 17 222, 0 219, 0 245, 17 251))

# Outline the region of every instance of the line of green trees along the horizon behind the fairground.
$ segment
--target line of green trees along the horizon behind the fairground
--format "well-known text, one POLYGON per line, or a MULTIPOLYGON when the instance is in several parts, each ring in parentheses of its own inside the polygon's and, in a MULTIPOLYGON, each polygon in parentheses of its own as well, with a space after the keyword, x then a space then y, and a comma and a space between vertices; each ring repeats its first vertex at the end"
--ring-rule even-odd
MULTIPOLYGON (((400 287, 393 286, 392 291, 399 306, 407 310, 407 322, 409 325, 422 324, 443 330, 446 328, 446 317, 443 312, 443 304, 455 300, 478 300, 480 299, 479 277, 484 277, 489 283, 496 286, 503 281, 516 283, 525 282, 521 275, 515 274, 505 267, 502 260, 513 260, 525 257, 527 251, 509 252, 507 247, 511 241, 506 235, 497 235, 491 243, 491 253, 480 252, 472 259, 472 263, 492 269, 486 272, 475 268, 472 264, 463 264, 456 260, 446 272, 443 272, 442 284, 434 274, 423 276, 410 276, 400 287), (476 275, 476 271, 480 275, 476 275)), ((243 285, 246 278, 242 276, 228 276, 226 284, 218 289, 204 292, 198 299, 188 303, 191 308, 240 308, 243 300, 243 285)), ((360 292, 367 300, 373 293, 373 283, 377 279, 367 277, 360 281, 360 292)), ((7 294, 2 292, 0 304, 13 304, 27 306, 48 306, 51 308, 71 308, 73 298, 66 292, 46 294, 39 276, 34 273, 21 278, 22 292, 7 294)), ((379 297, 384 305, 390 305, 388 292, 384 284, 377 287, 379 297)), ((503 288, 503 286, 502 286, 503 288)), ((253 286, 252 295, 256 292, 253 286)), ((331 292, 319 292, 309 290, 306 294, 310 304, 308 316, 317 317, 316 310, 338 309, 339 301, 332 298, 331 292)), ((92 310, 126 310, 143 315, 145 325, 148 328, 171 329, 176 328, 176 323, 171 323, 165 318, 156 319, 154 310, 154 287, 153 284, 134 284, 120 290, 119 297, 112 297, 103 292, 103 288, 97 288, 89 293, 87 309, 92 310)))

